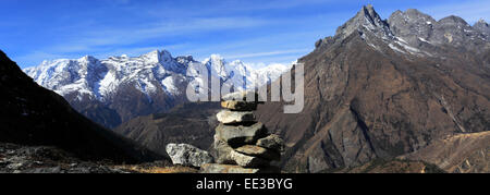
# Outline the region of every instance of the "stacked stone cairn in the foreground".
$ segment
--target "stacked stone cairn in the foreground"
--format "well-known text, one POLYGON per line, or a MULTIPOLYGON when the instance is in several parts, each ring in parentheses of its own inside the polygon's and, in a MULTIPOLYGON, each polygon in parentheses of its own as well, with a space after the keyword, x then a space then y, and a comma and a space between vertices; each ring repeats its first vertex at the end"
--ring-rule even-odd
POLYGON ((203 173, 274 173, 280 172, 271 161, 281 159, 283 141, 269 134, 253 113, 258 103, 256 93, 240 92, 222 97, 224 110, 217 114, 219 126, 215 134, 215 160, 201 166, 203 173), (248 97, 248 98, 247 98, 248 97), (249 100, 253 99, 253 100, 249 100))

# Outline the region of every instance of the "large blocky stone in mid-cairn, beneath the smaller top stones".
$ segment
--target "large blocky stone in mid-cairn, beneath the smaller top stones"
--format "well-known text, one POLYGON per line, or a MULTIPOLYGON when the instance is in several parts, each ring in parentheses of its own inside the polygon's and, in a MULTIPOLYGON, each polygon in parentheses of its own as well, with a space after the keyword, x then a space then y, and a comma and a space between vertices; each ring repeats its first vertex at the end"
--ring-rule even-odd
POLYGON ((220 124, 216 127, 217 138, 228 143, 233 148, 243 145, 255 145, 257 139, 267 136, 266 126, 258 122, 253 125, 224 125, 220 124))

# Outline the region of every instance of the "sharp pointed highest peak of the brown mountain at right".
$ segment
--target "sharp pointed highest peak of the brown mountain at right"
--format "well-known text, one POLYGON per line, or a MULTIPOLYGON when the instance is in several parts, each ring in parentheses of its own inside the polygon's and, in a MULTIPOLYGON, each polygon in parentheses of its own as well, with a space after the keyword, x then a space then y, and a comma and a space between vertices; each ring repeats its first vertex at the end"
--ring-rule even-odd
POLYGON ((390 37, 391 31, 388 23, 375 11, 375 8, 364 5, 357 14, 336 29, 335 36, 345 38, 355 32, 371 32, 380 37, 390 37))

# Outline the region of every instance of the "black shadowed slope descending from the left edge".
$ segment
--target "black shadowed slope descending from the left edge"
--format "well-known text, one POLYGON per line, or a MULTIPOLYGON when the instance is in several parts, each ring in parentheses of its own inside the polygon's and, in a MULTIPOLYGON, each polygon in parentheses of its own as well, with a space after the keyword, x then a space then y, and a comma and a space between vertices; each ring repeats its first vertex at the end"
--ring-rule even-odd
POLYGON ((139 162, 160 156, 89 121, 38 86, 0 51, 0 143, 54 146, 84 160, 139 162))

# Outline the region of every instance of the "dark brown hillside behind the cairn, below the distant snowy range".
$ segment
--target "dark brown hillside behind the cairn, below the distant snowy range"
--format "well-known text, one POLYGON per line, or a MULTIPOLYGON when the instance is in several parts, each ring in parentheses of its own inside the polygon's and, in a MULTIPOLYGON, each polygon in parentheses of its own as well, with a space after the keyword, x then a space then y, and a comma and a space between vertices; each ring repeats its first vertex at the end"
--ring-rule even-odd
POLYGON ((184 103, 164 113, 132 119, 113 131, 163 156, 168 156, 166 146, 170 143, 209 149, 219 110, 219 102, 184 103))

